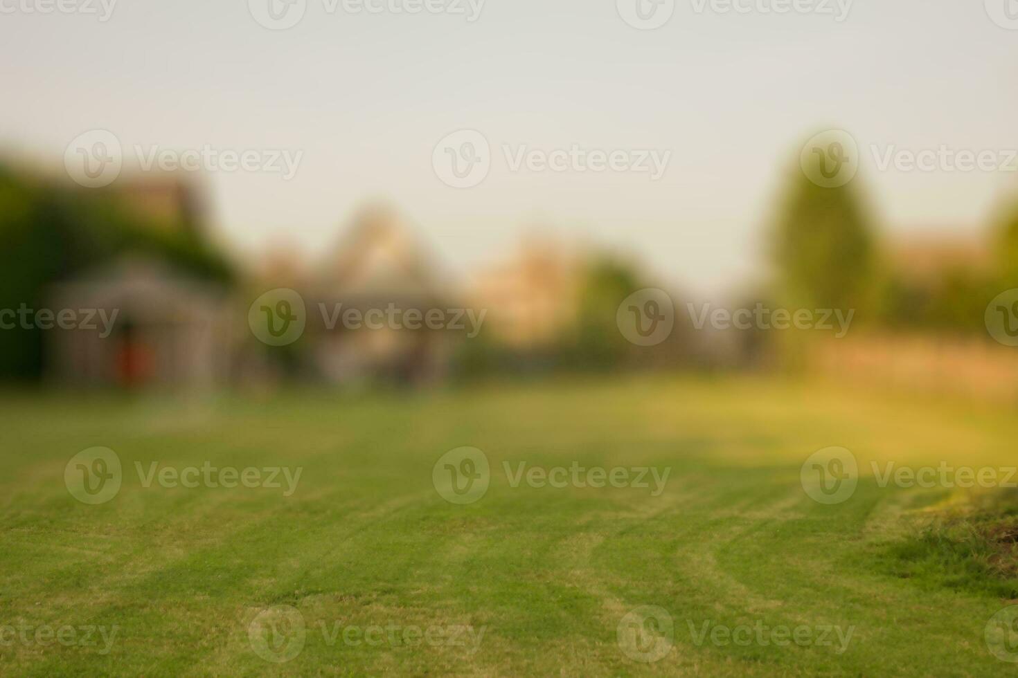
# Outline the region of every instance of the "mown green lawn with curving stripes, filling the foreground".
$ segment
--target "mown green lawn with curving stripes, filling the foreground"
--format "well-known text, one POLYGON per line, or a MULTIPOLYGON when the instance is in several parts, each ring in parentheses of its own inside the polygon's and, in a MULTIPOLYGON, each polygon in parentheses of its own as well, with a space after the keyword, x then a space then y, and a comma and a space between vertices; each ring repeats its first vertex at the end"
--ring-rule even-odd
MULTIPOLYGON (((929 532, 955 492, 882 488, 863 471, 848 501, 824 505, 799 475, 809 454, 832 445, 860 467, 1014 465, 1018 417, 1004 408, 660 379, 192 405, 10 394, 0 430, 0 626, 17 634, 0 631, 4 676, 1016 668, 984 640, 987 621, 1015 596, 1006 563, 929 532), (68 492, 64 472, 93 446, 116 451, 123 481, 111 500, 88 505, 68 492), (491 461, 487 494, 466 505, 443 499, 432 480, 439 457, 460 446, 491 461), (146 474, 158 461, 302 475, 290 496, 285 483, 145 487, 135 461, 146 474), (520 461, 671 471, 653 496, 653 483, 512 487, 503 461, 513 474, 520 461), (299 621, 277 606, 295 608, 299 621), (618 641, 620 622, 642 606, 674 624, 674 644, 653 664, 618 641), (293 659, 254 651, 252 628, 278 624, 269 641, 278 649, 299 623, 293 659), (38 632, 68 626, 66 642, 38 632), (373 626, 389 629, 381 642, 373 626), (430 627, 439 629, 430 639, 406 633, 430 627), (741 640, 723 642, 716 627, 741 640), (770 631, 752 630, 746 642, 741 627, 770 631), (778 644, 776 629, 797 627, 806 629, 801 642, 778 644), (838 633, 849 629, 845 644, 838 633)), ((667 635, 660 623, 644 626, 637 639, 667 635)))

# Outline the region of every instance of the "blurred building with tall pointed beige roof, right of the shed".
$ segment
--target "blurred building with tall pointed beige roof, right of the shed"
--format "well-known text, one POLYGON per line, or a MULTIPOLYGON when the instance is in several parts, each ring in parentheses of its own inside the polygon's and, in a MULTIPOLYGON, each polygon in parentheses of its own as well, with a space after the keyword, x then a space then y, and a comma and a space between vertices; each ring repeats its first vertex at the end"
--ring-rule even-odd
POLYGON ((401 220, 384 207, 361 211, 313 282, 305 337, 317 375, 333 383, 442 379, 459 332, 408 327, 405 315, 422 317, 456 306, 432 259, 401 220), (379 312, 385 314, 380 324, 379 312), (351 327, 347 312, 374 328, 351 327), (391 318, 395 318, 393 322, 391 318), (327 323, 333 326, 327 326, 327 323))

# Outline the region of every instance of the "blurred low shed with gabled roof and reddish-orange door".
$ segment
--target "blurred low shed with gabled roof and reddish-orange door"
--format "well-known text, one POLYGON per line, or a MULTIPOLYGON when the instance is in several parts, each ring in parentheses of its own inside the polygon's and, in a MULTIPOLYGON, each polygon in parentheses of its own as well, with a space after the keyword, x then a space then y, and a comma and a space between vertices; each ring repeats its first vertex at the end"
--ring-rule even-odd
POLYGON ((123 259, 56 287, 50 305, 94 312, 98 325, 47 332, 46 368, 59 383, 199 388, 228 376, 234 327, 223 291, 166 264, 123 259))

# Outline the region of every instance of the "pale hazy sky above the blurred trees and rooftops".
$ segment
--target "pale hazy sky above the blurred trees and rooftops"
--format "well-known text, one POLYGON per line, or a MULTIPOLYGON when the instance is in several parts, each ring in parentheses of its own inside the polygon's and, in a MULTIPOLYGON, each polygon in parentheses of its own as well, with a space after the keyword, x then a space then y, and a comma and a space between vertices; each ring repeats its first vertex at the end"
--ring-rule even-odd
POLYGON ((41 13, 56 1, 0 0, 0 144, 60 170, 92 129, 125 149, 302 151, 289 180, 204 173, 218 237, 252 256, 319 256, 386 199, 453 270, 547 231, 713 293, 758 273, 775 197, 819 130, 858 142, 853 181, 890 232, 975 233, 1018 186, 1016 172, 882 170, 870 150, 1018 148, 1016 0, 856 0, 843 20, 835 0, 780 14, 764 10, 782 0, 674 0, 654 29, 624 18, 635 0, 487 0, 475 16, 467 0, 415 14, 297 0, 287 29, 259 22, 269 0, 117 0, 105 21, 112 0, 41 13), (433 151, 463 129, 491 169, 454 188, 433 151), (671 155, 652 180, 514 171, 503 150, 573 144, 671 155))

